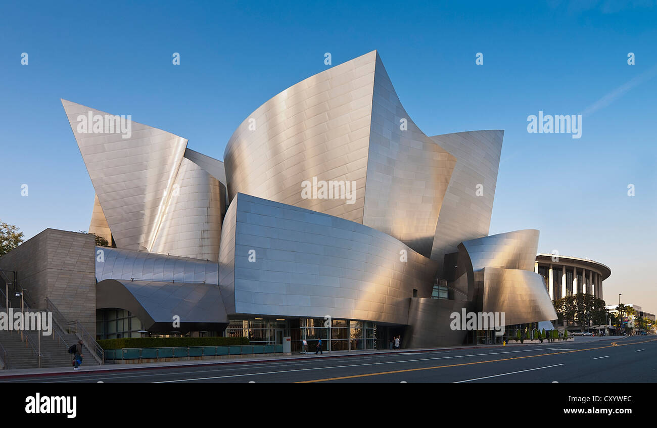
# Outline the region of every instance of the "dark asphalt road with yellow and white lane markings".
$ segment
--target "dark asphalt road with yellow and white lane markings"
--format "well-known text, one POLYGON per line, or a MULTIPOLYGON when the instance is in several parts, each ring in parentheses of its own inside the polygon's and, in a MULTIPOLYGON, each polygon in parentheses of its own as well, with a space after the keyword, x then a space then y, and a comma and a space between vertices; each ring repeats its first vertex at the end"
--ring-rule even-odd
POLYGON ((72 372, 0 383, 657 382, 657 338, 371 354, 184 368, 72 372))

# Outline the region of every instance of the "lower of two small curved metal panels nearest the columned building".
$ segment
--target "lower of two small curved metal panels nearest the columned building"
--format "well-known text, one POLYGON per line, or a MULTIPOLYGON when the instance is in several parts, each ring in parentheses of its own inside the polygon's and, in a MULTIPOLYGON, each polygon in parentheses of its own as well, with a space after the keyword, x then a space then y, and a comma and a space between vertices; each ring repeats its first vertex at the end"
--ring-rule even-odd
POLYGON ((493 267, 484 268, 482 274, 484 312, 505 312, 507 326, 556 320, 555 307, 539 274, 493 267))

